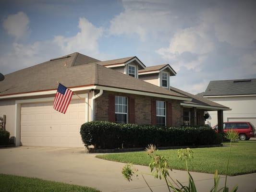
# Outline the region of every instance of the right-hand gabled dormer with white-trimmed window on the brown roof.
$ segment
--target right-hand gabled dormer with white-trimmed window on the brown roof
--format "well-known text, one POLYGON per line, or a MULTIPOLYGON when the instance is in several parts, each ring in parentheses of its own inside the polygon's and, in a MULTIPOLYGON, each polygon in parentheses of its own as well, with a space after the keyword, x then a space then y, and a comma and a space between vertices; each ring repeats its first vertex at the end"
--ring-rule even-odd
POLYGON ((139 70, 139 79, 159 87, 169 89, 170 77, 175 76, 176 72, 169 64, 155 65, 139 70))

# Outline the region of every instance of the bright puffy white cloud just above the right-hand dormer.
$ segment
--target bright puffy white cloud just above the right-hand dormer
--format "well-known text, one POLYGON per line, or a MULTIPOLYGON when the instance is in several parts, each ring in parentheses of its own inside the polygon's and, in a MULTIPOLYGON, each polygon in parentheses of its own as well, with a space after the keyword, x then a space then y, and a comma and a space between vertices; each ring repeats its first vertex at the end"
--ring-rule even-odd
POLYGON ((171 60, 177 71, 182 66, 200 71, 198 66, 214 49, 213 39, 207 34, 207 31, 205 25, 178 30, 171 38, 169 47, 160 48, 156 52, 165 60, 171 60), (187 57, 190 55, 194 55, 194 59, 188 60, 187 57))

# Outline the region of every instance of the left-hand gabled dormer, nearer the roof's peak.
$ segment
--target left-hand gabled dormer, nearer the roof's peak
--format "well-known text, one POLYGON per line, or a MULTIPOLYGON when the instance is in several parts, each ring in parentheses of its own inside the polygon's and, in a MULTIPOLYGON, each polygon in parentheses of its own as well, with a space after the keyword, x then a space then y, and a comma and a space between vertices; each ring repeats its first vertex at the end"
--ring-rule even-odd
POLYGON ((128 57, 117 60, 106 60, 97 62, 107 68, 122 72, 138 79, 139 70, 143 70, 146 66, 137 57, 128 57))

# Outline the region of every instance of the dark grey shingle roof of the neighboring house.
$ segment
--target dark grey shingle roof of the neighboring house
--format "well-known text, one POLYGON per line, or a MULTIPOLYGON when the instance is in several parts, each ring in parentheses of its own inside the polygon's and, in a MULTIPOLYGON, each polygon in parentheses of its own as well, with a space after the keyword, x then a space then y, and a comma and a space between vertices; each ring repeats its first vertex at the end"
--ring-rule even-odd
POLYGON ((256 79, 210 81, 201 96, 228 96, 256 94, 256 79))

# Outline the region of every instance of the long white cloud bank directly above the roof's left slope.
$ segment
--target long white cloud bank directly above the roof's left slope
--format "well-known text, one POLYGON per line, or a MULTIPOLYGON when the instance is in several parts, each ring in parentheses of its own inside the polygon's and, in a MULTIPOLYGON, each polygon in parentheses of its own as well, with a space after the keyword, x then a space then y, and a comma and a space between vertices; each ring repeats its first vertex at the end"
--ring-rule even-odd
POLYGON ((30 44, 12 43, 12 50, 0 56, 1 72, 6 74, 73 52, 101 59, 103 54, 99 53, 98 39, 103 29, 85 18, 79 19, 78 28, 79 32, 74 36, 54 36, 30 44))

